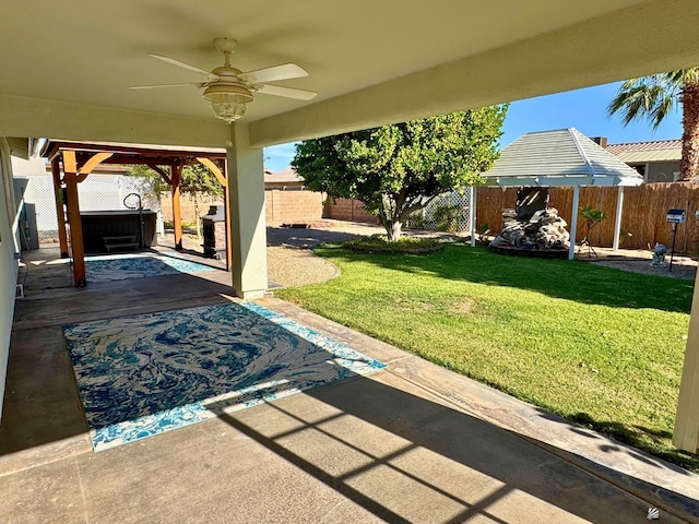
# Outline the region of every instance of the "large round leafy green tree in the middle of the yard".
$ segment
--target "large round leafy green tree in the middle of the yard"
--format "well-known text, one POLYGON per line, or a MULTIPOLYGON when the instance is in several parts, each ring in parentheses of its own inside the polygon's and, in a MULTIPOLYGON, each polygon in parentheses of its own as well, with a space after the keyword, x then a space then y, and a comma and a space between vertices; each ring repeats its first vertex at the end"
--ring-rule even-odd
POLYGON ((356 199, 395 241, 411 213, 479 183, 498 156, 507 105, 307 140, 292 165, 313 191, 356 199))

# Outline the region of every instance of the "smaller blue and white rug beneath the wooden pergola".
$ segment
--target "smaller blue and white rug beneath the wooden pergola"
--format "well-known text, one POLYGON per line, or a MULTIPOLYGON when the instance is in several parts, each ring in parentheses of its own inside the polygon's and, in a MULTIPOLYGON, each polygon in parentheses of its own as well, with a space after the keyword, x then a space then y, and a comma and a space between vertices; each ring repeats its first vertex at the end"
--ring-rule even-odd
POLYGON ((85 257, 85 271, 87 282, 110 282, 216 271, 216 267, 166 254, 126 253, 85 257))

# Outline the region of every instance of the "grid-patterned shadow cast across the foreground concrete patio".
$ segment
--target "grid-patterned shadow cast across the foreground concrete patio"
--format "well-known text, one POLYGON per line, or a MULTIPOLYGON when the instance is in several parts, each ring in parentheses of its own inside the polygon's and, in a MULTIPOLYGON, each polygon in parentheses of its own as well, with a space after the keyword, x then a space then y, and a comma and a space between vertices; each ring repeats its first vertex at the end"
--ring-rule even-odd
POLYGON ((636 497, 423 395, 393 377, 355 378, 220 417, 386 522, 644 516, 636 497))

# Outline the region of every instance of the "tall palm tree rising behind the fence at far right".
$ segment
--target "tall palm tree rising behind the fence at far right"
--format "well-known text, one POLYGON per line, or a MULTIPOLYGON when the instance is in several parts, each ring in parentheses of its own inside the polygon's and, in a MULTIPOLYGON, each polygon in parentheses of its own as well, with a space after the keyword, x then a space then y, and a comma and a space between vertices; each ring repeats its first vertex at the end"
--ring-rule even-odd
POLYGON ((677 104, 683 112, 679 179, 687 181, 699 175, 699 68, 627 80, 607 114, 620 112, 624 126, 645 118, 656 130, 677 104))

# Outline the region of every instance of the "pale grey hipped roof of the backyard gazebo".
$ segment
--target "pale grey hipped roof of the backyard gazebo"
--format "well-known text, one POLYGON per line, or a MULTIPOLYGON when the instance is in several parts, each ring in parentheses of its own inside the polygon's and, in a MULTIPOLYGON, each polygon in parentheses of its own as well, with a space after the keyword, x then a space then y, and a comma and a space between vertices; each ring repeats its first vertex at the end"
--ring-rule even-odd
POLYGON ((486 184, 500 187, 640 186, 636 169, 574 128, 526 133, 505 147, 486 184))

